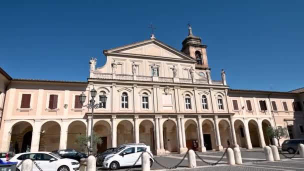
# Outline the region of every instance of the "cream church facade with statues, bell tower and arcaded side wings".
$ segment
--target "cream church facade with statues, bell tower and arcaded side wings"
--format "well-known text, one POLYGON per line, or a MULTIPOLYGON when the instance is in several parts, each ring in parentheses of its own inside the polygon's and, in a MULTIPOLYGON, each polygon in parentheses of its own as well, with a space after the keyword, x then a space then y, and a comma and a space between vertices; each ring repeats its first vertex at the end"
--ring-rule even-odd
POLYGON ((181 50, 153 34, 104 50, 105 64, 91 58, 84 82, 14 79, 2 70, 0 150, 79 150, 76 136, 90 135, 91 125, 102 139, 95 152, 124 143, 145 143, 155 154, 278 145, 283 139, 269 138, 268 126, 304 136, 304 90, 230 89, 224 70, 211 79, 206 47, 189 26, 181 50), (79 95, 88 102, 93 88, 92 122, 79 95))

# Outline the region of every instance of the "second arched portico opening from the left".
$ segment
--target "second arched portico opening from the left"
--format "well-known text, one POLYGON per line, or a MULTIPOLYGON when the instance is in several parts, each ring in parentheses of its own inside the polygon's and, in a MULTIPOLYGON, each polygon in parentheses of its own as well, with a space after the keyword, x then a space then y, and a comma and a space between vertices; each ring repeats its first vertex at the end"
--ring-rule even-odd
POLYGON ((60 124, 55 120, 44 121, 41 126, 39 151, 53 151, 59 149, 60 124))

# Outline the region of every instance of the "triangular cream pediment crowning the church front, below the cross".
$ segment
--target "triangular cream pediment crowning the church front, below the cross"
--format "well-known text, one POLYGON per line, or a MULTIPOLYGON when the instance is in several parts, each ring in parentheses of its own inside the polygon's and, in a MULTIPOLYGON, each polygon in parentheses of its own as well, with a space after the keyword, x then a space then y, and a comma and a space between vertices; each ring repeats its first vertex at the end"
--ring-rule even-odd
POLYGON ((168 46, 156 39, 145 40, 113 49, 107 50, 107 52, 115 53, 126 53, 126 54, 136 54, 144 56, 157 56, 166 57, 171 59, 183 59, 195 61, 192 57, 179 50, 168 46))

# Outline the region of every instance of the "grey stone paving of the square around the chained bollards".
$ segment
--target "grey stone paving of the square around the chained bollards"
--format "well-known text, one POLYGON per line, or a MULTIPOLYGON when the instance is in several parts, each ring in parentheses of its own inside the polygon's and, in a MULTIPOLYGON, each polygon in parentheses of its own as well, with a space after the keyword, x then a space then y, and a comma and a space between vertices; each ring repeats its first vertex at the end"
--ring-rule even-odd
MULTIPOLYGON (((207 152, 199 152, 198 155, 208 162, 216 162, 220 159, 222 151, 207 151, 207 152)), ((226 156, 222 158, 219 164, 215 166, 208 165, 202 162, 196 156, 196 165, 198 168, 185 168, 187 167, 187 157, 181 162, 179 167, 175 170, 304 170, 304 158, 298 158, 299 155, 295 155, 295 158, 288 159, 283 155, 280 155, 281 160, 276 162, 266 162, 264 152, 261 150, 242 150, 242 165, 227 165, 226 164, 226 156)), ((291 154, 285 153, 287 156, 292 156, 291 154)), ((165 166, 173 166, 178 163, 182 159, 183 154, 171 153, 162 156, 155 156, 155 159, 165 166)), ((120 170, 125 170, 126 168, 121 168, 120 170)), ((167 170, 155 162, 151 166, 151 170, 167 170)), ((102 167, 97 167, 97 170, 106 170, 102 167)), ((134 167, 131 170, 141 170, 140 166, 134 167)))

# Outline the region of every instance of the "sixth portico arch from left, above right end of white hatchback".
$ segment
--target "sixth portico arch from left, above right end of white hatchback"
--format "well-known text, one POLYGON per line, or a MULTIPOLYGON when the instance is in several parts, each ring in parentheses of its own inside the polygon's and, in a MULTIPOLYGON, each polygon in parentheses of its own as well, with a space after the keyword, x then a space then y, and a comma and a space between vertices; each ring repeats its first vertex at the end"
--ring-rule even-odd
POLYGON ((139 142, 150 146, 154 152, 154 125, 150 120, 142 120, 139 123, 139 142))

